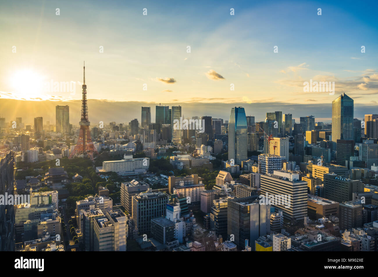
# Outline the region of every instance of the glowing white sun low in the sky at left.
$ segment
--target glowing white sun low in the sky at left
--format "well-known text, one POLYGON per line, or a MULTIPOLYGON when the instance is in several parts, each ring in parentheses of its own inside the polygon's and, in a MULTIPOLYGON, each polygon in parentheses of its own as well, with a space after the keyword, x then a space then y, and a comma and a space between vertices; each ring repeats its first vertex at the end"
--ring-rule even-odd
POLYGON ((33 69, 17 70, 10 78, 14 93, 25 99, 44 98, 43 84, 43 77, 33 69))

